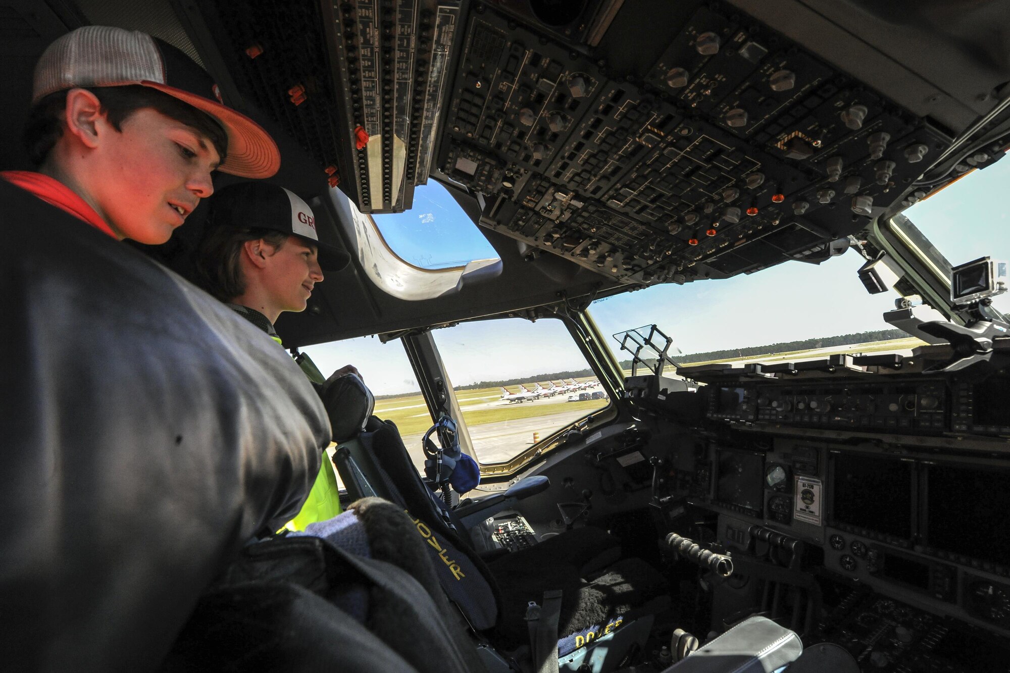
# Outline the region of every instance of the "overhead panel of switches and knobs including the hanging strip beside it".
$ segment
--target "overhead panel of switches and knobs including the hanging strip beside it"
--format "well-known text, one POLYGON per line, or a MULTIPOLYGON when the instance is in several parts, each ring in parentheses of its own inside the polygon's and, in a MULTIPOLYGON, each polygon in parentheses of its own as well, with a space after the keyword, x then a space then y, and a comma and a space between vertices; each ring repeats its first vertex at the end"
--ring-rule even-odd
POLYGON ((437 175, 482 226, 619 283, 825 259, 950 145, 718 0, 203 7, 241 95, 362 211, 437 175))

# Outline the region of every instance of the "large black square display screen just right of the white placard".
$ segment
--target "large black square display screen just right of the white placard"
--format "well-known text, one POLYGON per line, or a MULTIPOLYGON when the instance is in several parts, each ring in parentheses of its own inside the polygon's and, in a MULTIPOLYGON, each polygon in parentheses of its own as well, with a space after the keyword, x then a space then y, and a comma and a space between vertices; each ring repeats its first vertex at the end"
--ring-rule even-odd
POLYGON ((832 454, 831 519, 903 540, 912 537, 912 463, 832 454))

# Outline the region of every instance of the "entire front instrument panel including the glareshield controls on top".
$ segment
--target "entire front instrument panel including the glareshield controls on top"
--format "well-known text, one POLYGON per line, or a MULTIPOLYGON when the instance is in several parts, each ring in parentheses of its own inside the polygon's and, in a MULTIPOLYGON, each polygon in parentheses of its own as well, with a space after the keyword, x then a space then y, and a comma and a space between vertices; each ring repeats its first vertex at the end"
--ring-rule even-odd
MULTIPOLYGON (((979 654, 989 661, 1010 639, 1010 432, 997 408, 1010 376, 924 375, 874 358, 887 373, 851 357, 680 368, 705 385, 689 423, 695 473, 670 481, 717 516, 716 544, 741 575, 771 564, 762 586, 792 577, 812 591, 819 577, 853 591, 843 622, 815 628, 804 620, 821 610, 789 608, 805 642, 838 643, 865 670, 972 670, 924 653, 956 630, 995 643, 979 654)), ((749 604, 782 616, 780 590, 769 591, 749 604)), ((935 651, 947 657, 946 645, 935 651)))

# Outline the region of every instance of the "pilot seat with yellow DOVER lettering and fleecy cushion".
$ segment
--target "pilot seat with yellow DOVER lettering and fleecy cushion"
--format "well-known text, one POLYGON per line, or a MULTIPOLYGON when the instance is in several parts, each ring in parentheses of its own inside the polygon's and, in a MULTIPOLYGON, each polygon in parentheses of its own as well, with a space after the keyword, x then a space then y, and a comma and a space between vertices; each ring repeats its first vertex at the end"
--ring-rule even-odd
POLYGON ((351 500, 378 496, 407 511, 427 543, 442 590, 486 640, 480 651, 489 670, 509 670, 502 655, 526 659, 537 642, 542 659, 552 649, 542 646, 548 633, 561 670, 612 670, 644 645, 654 615, 670 604, 666 580, 655 569, 640 559, 622 559, 619 541, 590 525, 482 558, 469 543, 467 523, 542 491, 546 478, 522 480, 487 498, 490 503, 453 509, 421 479, 392 422, 372 416, 364 431, 359 429, 371 399, 352 375, 324 393, 338 444, 337 471, 351 500), (557 612, 553 631, 540 616, 551 612, 557 612), (588 668, 580 669, 583 665, 588 668))

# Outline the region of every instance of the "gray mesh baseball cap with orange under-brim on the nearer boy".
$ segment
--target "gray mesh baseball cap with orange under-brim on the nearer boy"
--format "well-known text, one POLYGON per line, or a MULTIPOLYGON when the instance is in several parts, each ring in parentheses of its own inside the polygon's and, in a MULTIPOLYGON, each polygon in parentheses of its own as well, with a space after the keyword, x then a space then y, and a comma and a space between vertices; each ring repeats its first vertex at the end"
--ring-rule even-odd
POLYGON ((77 28, 49 44, 35 66, 32 103, 74 87, 139 84, 189 103, 221 124, 228 152, 219 171, 269 178, 281 167, 274 138, 221 102, 214 81, 181 51, 145 32, 105 25, 77 28))

